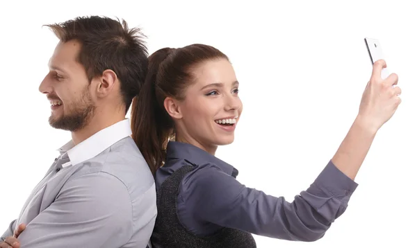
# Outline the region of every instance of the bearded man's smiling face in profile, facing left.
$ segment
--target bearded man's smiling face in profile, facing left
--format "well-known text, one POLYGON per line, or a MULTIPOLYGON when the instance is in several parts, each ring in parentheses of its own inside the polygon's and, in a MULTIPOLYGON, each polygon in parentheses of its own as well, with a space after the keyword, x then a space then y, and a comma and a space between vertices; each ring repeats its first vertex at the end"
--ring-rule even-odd
POLYGON ((59 42, 49 60, 49 73, 39 87, 51 103, 49 124, 71 132, 85 127, 96 108, 87 73, 77 61, 80 51, 77 41, 59 42))

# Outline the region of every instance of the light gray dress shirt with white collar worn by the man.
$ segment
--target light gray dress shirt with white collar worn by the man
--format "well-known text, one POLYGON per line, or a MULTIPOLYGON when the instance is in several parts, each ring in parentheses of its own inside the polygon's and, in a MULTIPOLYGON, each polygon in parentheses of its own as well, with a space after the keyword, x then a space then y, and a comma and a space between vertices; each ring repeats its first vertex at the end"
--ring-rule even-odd
POLYGON ((17 220, 21 247, 147 247, 156 219, 154 177, 130 137, 129 119, 115 123, 58 157, 17 220))

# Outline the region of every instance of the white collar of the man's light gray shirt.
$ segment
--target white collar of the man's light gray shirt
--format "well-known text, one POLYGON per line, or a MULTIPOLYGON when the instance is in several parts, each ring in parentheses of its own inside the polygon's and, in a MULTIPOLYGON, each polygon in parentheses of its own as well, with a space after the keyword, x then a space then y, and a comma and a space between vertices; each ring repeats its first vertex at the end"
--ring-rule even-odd
POLYGON ((130 121, 129 118, 126 118, 123 121, 119 121, 110 127, 100 130, 78 145, 74 145, 72 141, 69 141, 58 149, 61 157, 70 158, 70 162, 63 164, 63 167, 76 165, 96 157, 117 141, 131 134, 130 121))

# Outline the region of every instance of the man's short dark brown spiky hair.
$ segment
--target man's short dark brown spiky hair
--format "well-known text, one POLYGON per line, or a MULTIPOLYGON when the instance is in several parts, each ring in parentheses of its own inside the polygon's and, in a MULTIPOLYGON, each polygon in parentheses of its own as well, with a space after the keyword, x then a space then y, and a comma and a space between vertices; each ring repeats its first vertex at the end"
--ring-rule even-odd
POLYGON ((101 76, 106 69, 113 70, 120 80, 122 100, 126 113, 131 101, 139 93, 147 73, 147 47, 139 28, 129 29, 126 21, 109 17, 76 17, 48 26, 60 39, 76 39, 81 43, 78 56, 88 80, 101 76))

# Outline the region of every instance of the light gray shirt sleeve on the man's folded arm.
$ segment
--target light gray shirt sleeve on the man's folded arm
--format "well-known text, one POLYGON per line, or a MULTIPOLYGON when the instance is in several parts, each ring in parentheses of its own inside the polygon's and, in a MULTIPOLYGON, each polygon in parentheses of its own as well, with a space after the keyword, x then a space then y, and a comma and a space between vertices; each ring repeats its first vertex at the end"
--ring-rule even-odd
POLYGON ((31 248, 122 247, 132 236, 132 225, 126 186, 97 172, 67 181, 56 201, 27 224, 19 241, 31 248))

